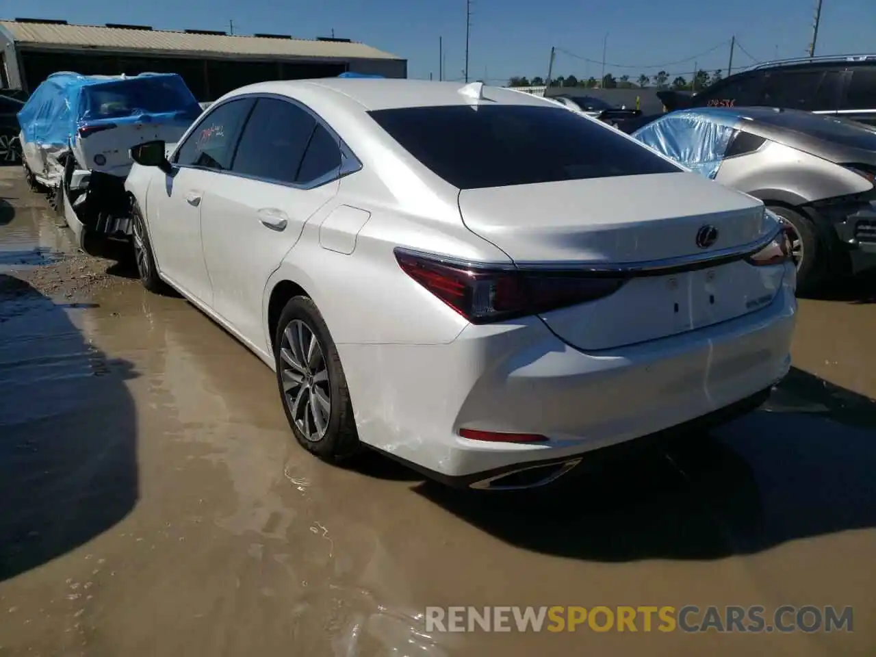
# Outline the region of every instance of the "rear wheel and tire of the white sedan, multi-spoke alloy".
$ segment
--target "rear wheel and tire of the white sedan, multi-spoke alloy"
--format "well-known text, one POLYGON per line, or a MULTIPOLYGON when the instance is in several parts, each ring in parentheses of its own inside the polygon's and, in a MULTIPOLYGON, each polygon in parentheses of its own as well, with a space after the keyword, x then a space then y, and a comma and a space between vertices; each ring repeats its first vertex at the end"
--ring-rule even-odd
POLYGON ((341 358, 309 298, 293 297, 283 308, 274 336, 274 362, 286 420, 300 446, 329 463, 357 454, 361 445, 341 358))

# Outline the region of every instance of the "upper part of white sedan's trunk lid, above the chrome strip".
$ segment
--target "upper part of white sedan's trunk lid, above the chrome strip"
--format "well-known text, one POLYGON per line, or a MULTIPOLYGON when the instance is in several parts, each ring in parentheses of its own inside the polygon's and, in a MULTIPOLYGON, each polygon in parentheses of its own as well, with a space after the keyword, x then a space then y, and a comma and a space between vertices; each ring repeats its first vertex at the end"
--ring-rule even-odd
POLYGON ((463 189, 463 222, 517 263, 631 263, 749 244, 767 230, 763 203, 696 173, 655 173, 463 189), (717 228, 696 246, 704 224, 717 228))

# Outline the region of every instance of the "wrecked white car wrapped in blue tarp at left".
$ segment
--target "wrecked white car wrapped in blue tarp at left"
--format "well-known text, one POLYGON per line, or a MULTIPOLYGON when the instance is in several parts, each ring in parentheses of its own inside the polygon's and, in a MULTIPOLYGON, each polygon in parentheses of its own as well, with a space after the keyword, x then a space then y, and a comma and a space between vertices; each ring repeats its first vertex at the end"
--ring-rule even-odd
POLYGON ((25 175, 82 248, 130 241, 124 180, 131 147, 175 142, 200 115, 179 74, 49 75, 18 112, 25 175))

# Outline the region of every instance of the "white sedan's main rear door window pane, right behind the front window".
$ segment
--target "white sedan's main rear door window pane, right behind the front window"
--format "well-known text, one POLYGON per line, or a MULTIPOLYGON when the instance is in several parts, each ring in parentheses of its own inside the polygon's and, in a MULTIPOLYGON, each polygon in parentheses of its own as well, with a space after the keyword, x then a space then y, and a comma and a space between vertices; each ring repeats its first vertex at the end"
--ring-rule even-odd
POLYGON ((292 102, 259 98, 237 146, 232 170, 261 180, 295 182, 316 119, 292 102))

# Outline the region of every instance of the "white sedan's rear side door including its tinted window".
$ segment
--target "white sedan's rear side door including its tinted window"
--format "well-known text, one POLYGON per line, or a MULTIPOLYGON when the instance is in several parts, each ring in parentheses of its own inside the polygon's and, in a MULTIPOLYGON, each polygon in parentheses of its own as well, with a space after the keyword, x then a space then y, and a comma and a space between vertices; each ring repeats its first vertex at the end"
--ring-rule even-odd
POLYGON ((259 98, 231 166, 205 194, 204 257, 215 311, 265 350, 265 284, 305 223, 337 194, 338 140, 291 100, 259 98))

